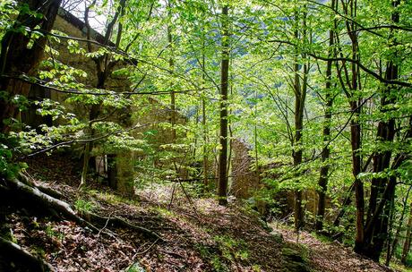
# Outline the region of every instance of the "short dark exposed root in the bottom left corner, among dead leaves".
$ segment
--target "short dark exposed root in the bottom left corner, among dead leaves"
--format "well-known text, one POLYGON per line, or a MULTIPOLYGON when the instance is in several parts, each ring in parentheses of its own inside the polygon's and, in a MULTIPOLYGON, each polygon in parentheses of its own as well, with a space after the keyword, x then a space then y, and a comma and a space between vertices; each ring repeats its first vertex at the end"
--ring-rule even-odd
POLYGON ((42 259, 38 259, 25 251, 14 242, 4 240, 0 237, 0 256, 15 264, 24 264, 33 272, 56 271, 51 265, 42 259))

